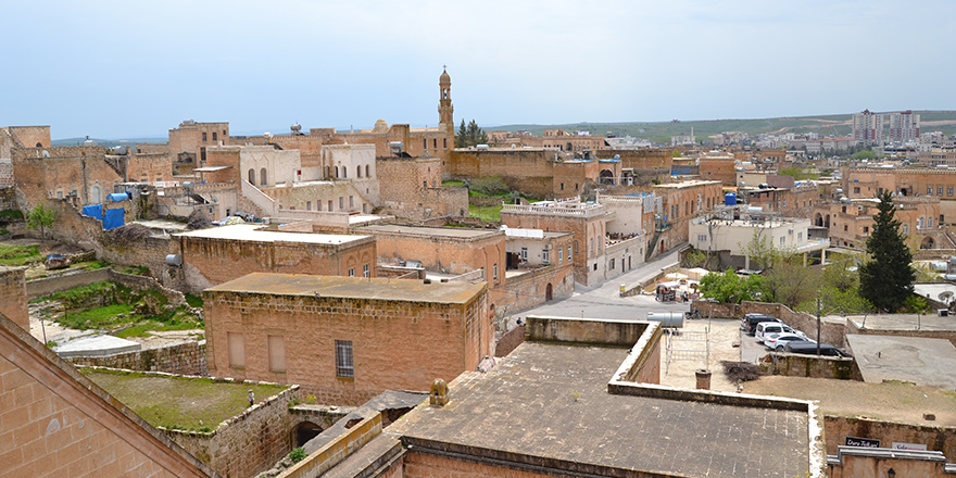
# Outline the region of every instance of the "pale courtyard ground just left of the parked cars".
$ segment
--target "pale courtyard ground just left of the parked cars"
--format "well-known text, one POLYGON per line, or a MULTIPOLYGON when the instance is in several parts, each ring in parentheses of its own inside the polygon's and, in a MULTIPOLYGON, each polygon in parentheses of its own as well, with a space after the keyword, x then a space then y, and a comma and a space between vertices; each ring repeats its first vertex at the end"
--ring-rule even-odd
MULTIPOLYGON (((724 366, 720 361, 740 361, 740 320, 728 318, 715 318, 713 320, 693 319, 684 320, 684 326, 680 329, 685 337, 697 335, 697 332, 709 331, 710 354, 706 368, 710 370, 710 389, 725 392, 735 392, 737 383, 731 382, 724 375, 724 366)), ((682 341, 680 335, 672 337, 674 349, 688 349, 694 351, 703 351, 700 355, 706 355, 706 342, 682 341)), ((677 361, 671 360, 668 367, 667 364, 667 334, 665 332, 664 344, 661 348, 661 383, 695 388, 695 372, 705 368, 704 360, 677 361)), ((675 354, 676 355, 676 354, 675 354)))

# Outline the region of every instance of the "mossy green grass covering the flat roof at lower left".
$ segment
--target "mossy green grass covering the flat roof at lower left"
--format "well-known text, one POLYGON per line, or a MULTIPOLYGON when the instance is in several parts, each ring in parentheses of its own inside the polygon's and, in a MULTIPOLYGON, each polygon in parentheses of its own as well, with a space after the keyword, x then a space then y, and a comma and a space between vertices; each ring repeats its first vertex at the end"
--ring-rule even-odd
POLYGON ((194 431, 212 431, 221 422, 242 413, 249 406, 249 390, 256 403, 262 403, 288 388, 90 368, 80 372, 150 425, 194 431))

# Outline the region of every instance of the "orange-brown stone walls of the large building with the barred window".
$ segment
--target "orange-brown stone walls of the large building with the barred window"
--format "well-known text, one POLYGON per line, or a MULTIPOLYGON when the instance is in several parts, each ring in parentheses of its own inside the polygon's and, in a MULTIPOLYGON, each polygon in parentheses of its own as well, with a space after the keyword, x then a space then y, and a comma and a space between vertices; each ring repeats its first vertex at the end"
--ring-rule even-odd
POLYGON ((466 304, 210 290, 203 298, 211 375, 299 383, 319 403, 429 390, 436 378, 451 381, 491 354, 485 291, 466 304), (244 366, 230 366, 229 334, 243 337, 244 366), (269 336, 284 343, 284 370, 271 369, 269 336), (352 341, 354 378, 337 376, 336 340, 352 341))

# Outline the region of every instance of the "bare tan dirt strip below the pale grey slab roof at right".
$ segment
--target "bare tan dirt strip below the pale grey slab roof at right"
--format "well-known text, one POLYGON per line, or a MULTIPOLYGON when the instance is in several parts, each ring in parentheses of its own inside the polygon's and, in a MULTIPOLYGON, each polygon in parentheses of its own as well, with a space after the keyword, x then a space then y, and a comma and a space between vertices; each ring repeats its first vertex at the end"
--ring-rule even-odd
POLYGON ((863 416, 907 424, 956 426, 956 393, 898 381, 866 383, 804 377, 762 377, 744 393, 819 400, 823 414, 863 416), (934 414, 927 420, 923 414, 934 414))

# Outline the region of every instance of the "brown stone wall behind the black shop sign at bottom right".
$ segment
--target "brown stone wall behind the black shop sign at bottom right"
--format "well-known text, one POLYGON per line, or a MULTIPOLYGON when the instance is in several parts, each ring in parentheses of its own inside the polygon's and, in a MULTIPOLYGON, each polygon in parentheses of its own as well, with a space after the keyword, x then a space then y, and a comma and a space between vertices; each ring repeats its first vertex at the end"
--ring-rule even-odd
POLYGON ((827 415, 823 417, 827 437, 827 454, 835 455, 836 446, 846 437, 880 440, 880 446, 892 448, 893 442, 926 444, 927 450, 943 452, 946 462, 956 462, 956 427, 901 424, 870 418, 852 418, 827 415))

